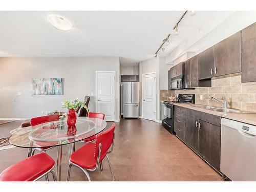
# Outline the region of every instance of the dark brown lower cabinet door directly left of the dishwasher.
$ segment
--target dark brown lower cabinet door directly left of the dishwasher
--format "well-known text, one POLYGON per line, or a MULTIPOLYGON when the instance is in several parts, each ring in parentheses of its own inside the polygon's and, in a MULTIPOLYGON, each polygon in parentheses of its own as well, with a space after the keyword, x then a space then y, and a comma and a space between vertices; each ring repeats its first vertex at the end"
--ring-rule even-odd
POLYGON ((199 153, 213 167, 220 170, 221 127, 199 121, 199 153))

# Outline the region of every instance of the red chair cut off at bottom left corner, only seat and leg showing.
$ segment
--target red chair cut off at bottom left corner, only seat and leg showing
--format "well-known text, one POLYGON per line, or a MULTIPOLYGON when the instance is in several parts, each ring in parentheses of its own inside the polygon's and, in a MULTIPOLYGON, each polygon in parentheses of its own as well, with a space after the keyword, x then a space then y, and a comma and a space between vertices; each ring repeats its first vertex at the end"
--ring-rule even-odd
POLYGON ((38 179, 54 173, 54 160, 46 153, 39 153, 19 161, 3 170, 0 181, 37 181, 38 179))

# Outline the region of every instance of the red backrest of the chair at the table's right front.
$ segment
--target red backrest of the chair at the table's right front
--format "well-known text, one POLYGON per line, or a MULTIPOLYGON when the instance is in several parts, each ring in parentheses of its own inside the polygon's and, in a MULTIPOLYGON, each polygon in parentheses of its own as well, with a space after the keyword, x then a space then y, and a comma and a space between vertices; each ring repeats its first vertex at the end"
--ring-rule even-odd
POLYGON ((114 143, 114 132, 115 132, 115 123, 112 124, 112 126, 110 127, 110 129, 99 133, 98 135, 96 135, 96 139, 95 139, 95 150, 94 150, 94 158, 97 159, 98 155, 99 155, 99 144, 101 143, 101 157, 102 155, 105 155, 109 148, 111 147, 111 145, 113 145, 114 143))

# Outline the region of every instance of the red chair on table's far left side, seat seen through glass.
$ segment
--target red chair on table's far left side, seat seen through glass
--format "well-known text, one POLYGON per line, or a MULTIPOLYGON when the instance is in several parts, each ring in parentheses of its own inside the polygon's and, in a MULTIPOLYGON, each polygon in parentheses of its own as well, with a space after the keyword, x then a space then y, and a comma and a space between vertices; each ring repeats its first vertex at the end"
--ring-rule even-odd
MULTIPOLYGON (((41 117, 34 117, 31 119, 31 126, 35 126, 41 123, 47 123, 51 121, 58 121, 59 120, 59 115, 46 115, 46 116, 41 116, 41 117)), ((51 142, 51 143, 44 143, 44 142, 35 142, 36 145, 38 145, 38 148, 33 148, 31 155, 34 155, 35 150, 38 150, 40 152, 46 152, 47 150, 50 150, 52 147, 48 147, 50 145, 56 145, 58 142, 51 142), (44 145, 47 145, 44 147, 44 145)))

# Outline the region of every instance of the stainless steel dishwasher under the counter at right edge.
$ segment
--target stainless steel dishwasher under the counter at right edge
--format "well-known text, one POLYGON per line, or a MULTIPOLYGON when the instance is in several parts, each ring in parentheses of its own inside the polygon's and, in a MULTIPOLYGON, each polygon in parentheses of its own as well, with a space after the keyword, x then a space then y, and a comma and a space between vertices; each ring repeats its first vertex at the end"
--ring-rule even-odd
POLYGON ((256 126, 222 118, 221 172, 232 181, 256 181, 256 126))

